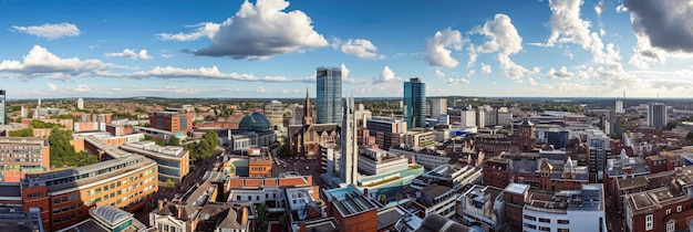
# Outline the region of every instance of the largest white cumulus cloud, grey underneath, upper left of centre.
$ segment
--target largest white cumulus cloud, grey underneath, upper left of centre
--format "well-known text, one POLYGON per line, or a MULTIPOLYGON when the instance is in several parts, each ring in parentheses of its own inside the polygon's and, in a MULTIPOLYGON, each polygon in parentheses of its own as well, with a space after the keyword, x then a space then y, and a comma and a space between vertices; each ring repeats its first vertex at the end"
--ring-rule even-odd
POLYGON ((159 40, 196 40, 207 36, 211 43, 197 51, 203 56, 229 56, 237 60, 267 60, 272 55, 327 46, 328 41, 313 30, 310 18, 300 10, 286 12, 285 0, 245 1, 238 12, 216 25, 205 23, 192 34, 157 34, 159 40))

